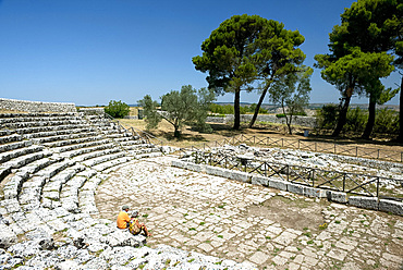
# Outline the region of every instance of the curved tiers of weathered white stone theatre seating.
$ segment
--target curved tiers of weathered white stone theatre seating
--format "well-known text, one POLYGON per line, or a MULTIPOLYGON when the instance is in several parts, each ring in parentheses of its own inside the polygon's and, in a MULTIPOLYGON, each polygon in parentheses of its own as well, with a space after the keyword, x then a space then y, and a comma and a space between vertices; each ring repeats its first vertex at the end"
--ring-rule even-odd
MULTIPOLYGON (((131 160, 164 155, 99 110, 0 99, 0 269, 247 269, 170 246, 96 218, 97 186, 131 160)), ((119 209, 117 209, 118 211, 119 209)))

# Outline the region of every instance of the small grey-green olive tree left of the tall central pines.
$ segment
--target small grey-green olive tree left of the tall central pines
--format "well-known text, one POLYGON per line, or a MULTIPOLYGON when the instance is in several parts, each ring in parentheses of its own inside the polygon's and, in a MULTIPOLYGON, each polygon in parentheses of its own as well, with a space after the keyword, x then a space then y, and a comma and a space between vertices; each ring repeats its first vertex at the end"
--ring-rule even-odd
POLYGON ((174 137, 180 137, 180 130, 185 123, 200 131, 211 132, 211 127, 206 124, 206 118, 215 99, 212 90, 202 88, 196 91, 192 85, 185 85, 181 91, 171 90, 161 97, 161 111, 157 111, 158 102, 152 101, 148 95, 138 102, 144 107, 147 126, 156 127, 162 119, 166 119, 174 127, 174 137))

